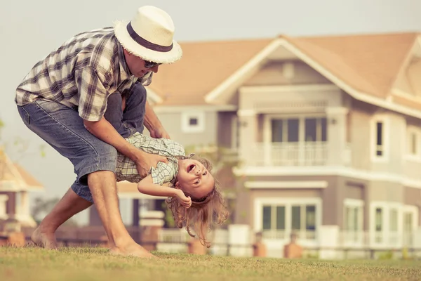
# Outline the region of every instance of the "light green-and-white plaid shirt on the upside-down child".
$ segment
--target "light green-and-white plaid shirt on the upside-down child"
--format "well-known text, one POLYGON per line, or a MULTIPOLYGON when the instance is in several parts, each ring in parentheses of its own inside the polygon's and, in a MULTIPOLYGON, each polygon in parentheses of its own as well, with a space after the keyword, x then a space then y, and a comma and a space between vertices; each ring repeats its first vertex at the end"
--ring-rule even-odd
MULTIPOLYGON (((178 159, 175 156, 185 156, 185 150, 175 141, 168 138, 151 138, 144 136, 139 132, 126 138, 126 141, 145 152, 166 156, 168 163, 159 162, 156 168, 151 167, 149 174, 152 175, 152 180, 157 185, 169 183, 178 174, 178 159)), ((130 181, 131 183, 138 183, 142 178, 138 174, 135 162, 128 157, 119 153, 116 167, 117 181, 130 181)))

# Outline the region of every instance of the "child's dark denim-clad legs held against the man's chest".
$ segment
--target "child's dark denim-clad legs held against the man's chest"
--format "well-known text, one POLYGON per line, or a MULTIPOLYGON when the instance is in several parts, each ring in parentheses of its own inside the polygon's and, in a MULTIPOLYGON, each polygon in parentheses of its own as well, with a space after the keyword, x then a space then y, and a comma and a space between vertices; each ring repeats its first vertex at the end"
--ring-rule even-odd
MULTIPOLYGON (((123 94, 124 95, 124 94, 123 94)), ((126 93, 126 107, 122 110, 122 96, 112 93, 107 100, 105 119, 114 126, 123 138, 143 131, 143 118, 145 117, 146 90, 142 84, 135 84, 126 93)))

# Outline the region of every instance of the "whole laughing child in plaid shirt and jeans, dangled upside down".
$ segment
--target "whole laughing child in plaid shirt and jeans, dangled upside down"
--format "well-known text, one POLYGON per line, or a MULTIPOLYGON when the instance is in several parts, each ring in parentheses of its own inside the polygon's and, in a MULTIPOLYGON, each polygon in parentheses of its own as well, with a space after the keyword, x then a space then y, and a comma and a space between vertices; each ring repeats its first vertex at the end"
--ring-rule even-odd
POLYGON ((212 165, 201 157, 186 156, 180 143, 142 135, 145 103, 145 88, 137 83, 130 93, 109 96, 105 119, 136 148, 166 156, 168 163, 159 162, 141 178, 135 162, 119 153, 116 180, 138 183, 139 192, 147 195, 168 197, 166 204, 178 228, 184 224, 189 235, 194 237, 194 230, 201 244, 210 247, 206 239, 210 226, 225 222, 228 216, 218 183, 211 174, 212 165))

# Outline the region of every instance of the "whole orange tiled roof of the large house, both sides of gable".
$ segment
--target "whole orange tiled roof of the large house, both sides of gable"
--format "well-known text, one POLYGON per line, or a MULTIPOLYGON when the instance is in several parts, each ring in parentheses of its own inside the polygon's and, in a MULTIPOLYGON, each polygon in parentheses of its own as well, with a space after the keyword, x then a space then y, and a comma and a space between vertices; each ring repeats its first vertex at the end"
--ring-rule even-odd
MULTIPOLYGON (((356 91, 386 98, 419 35, 410 32, 279 38, 356 91)), ((180 43, 183 58, 174 65, 161 65, 149 88, 162 98, 159 105, 206 105, 208 93, 279 38, 180 43)), ((396 99, 396 103, 420 107, 405 98, 396 99)))

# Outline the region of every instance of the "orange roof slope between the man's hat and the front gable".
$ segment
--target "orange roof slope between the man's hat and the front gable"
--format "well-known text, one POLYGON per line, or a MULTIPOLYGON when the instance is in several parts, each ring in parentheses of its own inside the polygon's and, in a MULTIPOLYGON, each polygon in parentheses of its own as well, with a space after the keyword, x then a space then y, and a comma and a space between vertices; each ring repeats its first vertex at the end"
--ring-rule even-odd
POLYGON ((165 105, 203 105, 215 86, 242 67, 273 39, 180 43, 183 57, 161 65, 152 89, 165 105))

